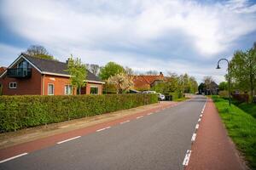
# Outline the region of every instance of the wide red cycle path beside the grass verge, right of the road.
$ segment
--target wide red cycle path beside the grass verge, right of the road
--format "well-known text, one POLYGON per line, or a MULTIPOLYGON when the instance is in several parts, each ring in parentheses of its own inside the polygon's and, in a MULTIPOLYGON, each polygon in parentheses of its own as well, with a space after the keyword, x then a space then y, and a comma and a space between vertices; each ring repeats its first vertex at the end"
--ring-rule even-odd
POLYGON ((208 99, 191 150, 189 165, 185 170, 246 169, 228 137, 212 99, 208 99))

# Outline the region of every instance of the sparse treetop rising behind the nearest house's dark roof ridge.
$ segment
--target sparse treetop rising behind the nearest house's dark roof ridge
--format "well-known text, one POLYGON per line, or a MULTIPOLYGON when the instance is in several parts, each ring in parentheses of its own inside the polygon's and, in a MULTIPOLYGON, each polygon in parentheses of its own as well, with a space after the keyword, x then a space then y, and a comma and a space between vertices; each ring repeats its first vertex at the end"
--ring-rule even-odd
POLYGON ((33 57, 40 59, 54 59, 54 57, 49 54, 47 49, 40 45, 30 46, 26 49, 25 54, 32 55, 33 57))

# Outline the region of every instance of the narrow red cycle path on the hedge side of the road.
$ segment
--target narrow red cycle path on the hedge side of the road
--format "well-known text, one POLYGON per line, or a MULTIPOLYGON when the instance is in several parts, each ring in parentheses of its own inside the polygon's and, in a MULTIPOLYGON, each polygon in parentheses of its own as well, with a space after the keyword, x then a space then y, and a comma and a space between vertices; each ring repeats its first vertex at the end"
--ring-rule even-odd
MULTIPOLYGON (((183 103, 183 102, 180 102, 183 103)), ((179 104, 180 104, 179 103, 179 104)), ((161 105, 160 107, 154 108, 154 109, 150 109, 147 111, 142 111, 139 112, 137 114, 131 115, 131 116, 125 116, 110 122, 102 122, 90 127, 84 127, 84 128, 80 128, 77 130, 73 130, 73 131, 69 131, 67 133, 61 133, 61 134, 56 134, 44 139, 36 139, 30 142, 26 142, 23 144, 17 144, 15 146, 11 146, 8 148, 4 148, 2 150, 0 150, 0 161, 7 159, 9 157, 12 156, 17 156, 20 155, 22 153, 29 153, 35 150, 41 150, 44 149, 46 147, 49 147, 51 145, 56 144, 57 142, 60 142, 62 140, 66 140, 66 139, 71 139, 77 136, 84 136, 86 134, 89 133, 95 133, 96 130, 104 128, 104 127, 109 127, 109 126, 115 126, 118 125, 120 122, 125 122, 127 120, 134 120, 137 118, 137 116, 145 116, 150 112, 155 112, 155 111, 160 111, 162 109, 168 108, 168 107, 172 107, 175 105, 179 105, 177 103, 170 103, 168 105, 161 105)))

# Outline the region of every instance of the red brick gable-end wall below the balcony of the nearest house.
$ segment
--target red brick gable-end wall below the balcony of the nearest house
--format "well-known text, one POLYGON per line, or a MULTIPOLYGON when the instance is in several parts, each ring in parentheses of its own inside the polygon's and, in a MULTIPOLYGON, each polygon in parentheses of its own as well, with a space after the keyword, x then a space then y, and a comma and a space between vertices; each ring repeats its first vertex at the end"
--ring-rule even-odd
POLYGON ((40 95, 41 94, 41 73, 32 68, 30 78, 11 78, 4 76, 0 78, 3 84, 3 95, 40 95), (17 82, 17 88, 9 88, 9 82, 17 82))

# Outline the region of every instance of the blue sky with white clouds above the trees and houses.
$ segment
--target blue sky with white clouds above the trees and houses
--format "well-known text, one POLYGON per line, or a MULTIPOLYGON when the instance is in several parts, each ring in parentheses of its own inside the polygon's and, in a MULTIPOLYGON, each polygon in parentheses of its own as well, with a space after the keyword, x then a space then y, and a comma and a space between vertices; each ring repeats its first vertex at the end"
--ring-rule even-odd
POLYGON ((188 73, 224 81, 236 50, 256 42, 256 2, 248 0, 0 0, 0 66, 31 45, 55 59, 114 61, 134 71, 188 73))

